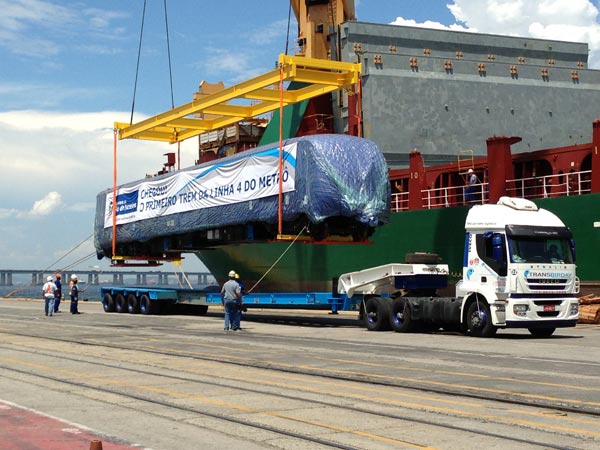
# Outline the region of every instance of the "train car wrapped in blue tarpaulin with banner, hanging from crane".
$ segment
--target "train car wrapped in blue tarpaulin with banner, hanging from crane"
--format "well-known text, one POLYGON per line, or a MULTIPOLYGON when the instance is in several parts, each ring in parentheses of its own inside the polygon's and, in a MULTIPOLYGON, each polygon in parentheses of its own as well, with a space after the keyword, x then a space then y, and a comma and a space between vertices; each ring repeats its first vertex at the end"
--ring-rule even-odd
MULTIPOLYGON (((284 141, 283 220, 332 217, 368 227, 389 216, 390 187, 384 157, 373 142, 346 135, 284 141)), ((118 187, 117 242, 278 221, 279 146, 270 144, 188 169, 118 187)), ((110 255, 112 199, 97 196, 94 226, 99 256, 110 255)))

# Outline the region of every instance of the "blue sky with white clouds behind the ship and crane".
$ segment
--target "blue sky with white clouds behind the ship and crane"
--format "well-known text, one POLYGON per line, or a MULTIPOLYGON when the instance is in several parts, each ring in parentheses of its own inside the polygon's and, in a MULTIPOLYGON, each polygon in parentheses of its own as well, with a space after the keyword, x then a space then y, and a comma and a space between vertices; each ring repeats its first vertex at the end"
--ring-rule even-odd
MULTIPOLYGON (((113 123, 132 113, 143 5, 0 0, 0 269, 109 267, 91 240, 96 195, 112 186, 113 123)), ((600 68, 599 7, 598 0, 356 0, 356 15, 588 42, 590 66, 600 68)), ((167 1, 174 105, 189 102, 202 80, 230 86, 273 69, 288 41, 288 12, 283 0, 167 1)), ((165 28, 164 2, 147 0, 134 122, 172 106, 165 28)), ((290 49, 295 31, 292 20, 290 49)), ((163 154, 175 151, 133 140, 118 149, 119 184, 156 173, 163 154)), ((190 140, 181 164, 195 159, 190 140)), ((184 270, 202 268, 186 256, 184 270)))

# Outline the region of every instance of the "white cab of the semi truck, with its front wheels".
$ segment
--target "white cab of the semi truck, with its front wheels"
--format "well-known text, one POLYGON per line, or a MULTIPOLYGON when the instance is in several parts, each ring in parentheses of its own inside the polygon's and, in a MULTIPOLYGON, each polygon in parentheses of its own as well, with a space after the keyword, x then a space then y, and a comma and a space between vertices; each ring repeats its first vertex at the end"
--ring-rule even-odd
POLYGON ((556 215, 529 200, 502 197, 471 208, 465 229, 456 295, 471 334, 527 328, 545 337, 576 325, 575 244, 556 215))

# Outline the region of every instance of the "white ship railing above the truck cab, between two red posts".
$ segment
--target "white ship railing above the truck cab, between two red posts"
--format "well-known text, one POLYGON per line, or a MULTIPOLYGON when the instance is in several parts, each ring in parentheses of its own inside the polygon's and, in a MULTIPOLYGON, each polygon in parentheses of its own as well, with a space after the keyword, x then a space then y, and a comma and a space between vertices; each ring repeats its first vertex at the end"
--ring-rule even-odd
POLYGON ((514 183, 515 186, 508 189, 507 194, 512 197, 527 199, 589 194, 591 192, 591 178, 591 170, 542 177, 517 178, 507 180, 509 184, 514 183))

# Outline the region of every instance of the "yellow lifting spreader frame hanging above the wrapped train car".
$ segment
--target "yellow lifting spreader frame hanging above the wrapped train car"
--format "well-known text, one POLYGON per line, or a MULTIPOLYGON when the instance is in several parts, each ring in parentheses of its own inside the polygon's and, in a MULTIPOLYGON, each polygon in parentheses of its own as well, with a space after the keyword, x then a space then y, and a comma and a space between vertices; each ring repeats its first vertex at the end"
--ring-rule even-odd
POLYGON ((274 111, 282 103, 286 106, 349 88, 358 83, 360 72, 361 65, 356 63, 282 54, 275 70, 135 124, 115 122, 115 131, 119 139, 173 144, 274 111), (282 81, 298 81, 305 86, 282 92, 282 81), (208 118, 194 118, 195 114, 208 118))

